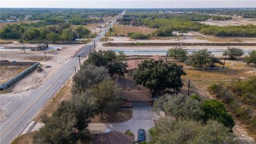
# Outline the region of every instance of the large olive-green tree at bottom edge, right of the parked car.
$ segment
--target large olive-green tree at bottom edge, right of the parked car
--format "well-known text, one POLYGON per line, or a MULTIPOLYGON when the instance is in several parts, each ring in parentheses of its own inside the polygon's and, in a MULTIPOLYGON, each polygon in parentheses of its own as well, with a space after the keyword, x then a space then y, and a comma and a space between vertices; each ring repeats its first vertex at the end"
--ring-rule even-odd
POLYGON ((217 121, 207 124, 191 120, 173 121, 171 117, 160 119, 149 129, 150 143, 236 143, 235 135, 217 121))

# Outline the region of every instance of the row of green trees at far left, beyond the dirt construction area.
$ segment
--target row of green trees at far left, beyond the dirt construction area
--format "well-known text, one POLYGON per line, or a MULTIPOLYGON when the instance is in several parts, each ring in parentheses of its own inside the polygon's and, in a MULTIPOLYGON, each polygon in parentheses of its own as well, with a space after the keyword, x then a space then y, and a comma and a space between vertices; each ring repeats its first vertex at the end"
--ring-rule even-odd
MULTIPOLYGON (((45 26, 35 28, 32 26, 7 25, 0 30, 0 38, 3 39, 21 39, 21 41, 31 41, 37 39, 45 39, 50 43, 57 41, 71 42, 71 39, 91 37, 91 31, 84 26, 78 26, 74 30, 71 29, 71 24, 64 22, 61 25, 45 26), (22 33, 19 33, 20 29, 22 33)), ((44 41, 44 42, 45 42, 44 41)))

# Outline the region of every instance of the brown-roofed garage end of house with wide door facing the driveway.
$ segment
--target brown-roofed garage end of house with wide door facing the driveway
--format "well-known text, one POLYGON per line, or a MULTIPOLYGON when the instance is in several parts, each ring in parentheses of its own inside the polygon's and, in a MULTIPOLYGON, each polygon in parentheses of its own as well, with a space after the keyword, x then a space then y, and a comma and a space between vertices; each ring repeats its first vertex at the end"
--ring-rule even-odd
POLYGON ((123 100, 122 107, 148 107, 153 102, 150 91, 122 91, 120 98, 123 100))

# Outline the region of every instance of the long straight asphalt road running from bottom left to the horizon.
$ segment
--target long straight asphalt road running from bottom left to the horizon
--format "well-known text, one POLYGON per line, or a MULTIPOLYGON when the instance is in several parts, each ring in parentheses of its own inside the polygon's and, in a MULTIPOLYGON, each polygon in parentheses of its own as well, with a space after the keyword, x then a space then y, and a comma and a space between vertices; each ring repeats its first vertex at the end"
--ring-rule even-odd
MULTIPOLYGON (((124 11, 125 12, 125 11, 124 11)), ((124 12, 122 14, 124 14, 124 12)), ((113 26, 114 21, 109 24, 106 28, 106 31, 113 26)), ((94 38, 94 42, 99 42, 100 38, 105 35, 105 30, 102 30, 102 33, 94 38)), ((42 108, 42 106, 57 93, 61 86, 74 74, 74 67, 77 66, 79 60, 78 55, 81 57, 87 57, 90 50, 94 49, 93 41, 85 45, 83 49, 78 51, 73 58, 71 58, 62 68, 60 68, 51 78, 40 86, 38 89, 31 90, 26 94, 20 94, 17 97, 17 94, 10 94, 7 98, 1 98, 2 103, 7 103, 1 108, 8 108, 8 105, 15 105, 16 103, 20 106, 15 106, 15 108, 8 109, 12 111, 12 115, 7 116, 7 119, 4 122, 1 122, 0 127, 0 143, 10 143, 15 137, 17 137, 25 127, 32 121, 33 117, 42 108), (17 102, 17 100, 22 100, 21 97, 26 97, 27 99, 22 103, 17 102)))

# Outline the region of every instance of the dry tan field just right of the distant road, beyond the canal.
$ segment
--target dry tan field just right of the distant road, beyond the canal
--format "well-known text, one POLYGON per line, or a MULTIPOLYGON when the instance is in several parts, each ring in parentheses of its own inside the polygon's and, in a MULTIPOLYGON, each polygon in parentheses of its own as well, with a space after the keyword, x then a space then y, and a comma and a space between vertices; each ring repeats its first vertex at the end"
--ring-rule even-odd
MULTIPOLYGON (((128 33, 141 33, 147 35, 153 33, 155 30, 156 29, 149 27, 118 25, 114 31, 111 32, 111 36, 128 36, 128 33)), ((107 35, 110 36, 110 33, 108 32, 107 35)))

